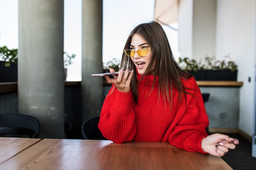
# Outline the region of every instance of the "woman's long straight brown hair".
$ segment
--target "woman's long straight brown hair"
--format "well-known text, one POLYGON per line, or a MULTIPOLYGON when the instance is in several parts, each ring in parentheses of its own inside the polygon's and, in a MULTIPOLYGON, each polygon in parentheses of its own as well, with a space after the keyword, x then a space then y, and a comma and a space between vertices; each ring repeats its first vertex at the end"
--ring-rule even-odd
MULTIPOLYGON (((168 95, 169 89, 171 89, 172 94, 173 86, 179 91, 179 97, 181 97, 182 94, 189 94, 185 91, 186 87, 184 87, 180 78, 188 79, 191 77, 191 74, 182 71, 175 62, 170 44, 162 26, 154 21, 139 24, 132 30, 132 32, 128 36, 124 49, 130 49, 132 36, 135 34, 140 35, 141 38, 146 40, 146 42, 148 42, 148 44, 150 45, 152 51, 151 61, 146 68, 144 74, 142 75, 141 79, 143 79, 145 76, 148 76, 147 74, 154 69, 155 78, 153 81, 153 86, 155 84, 156 76, 158 76, 158 96, 160 96, 161 92, 164 100, 167 97, 169 104, 170 102, 172 102, 170 101, 170 97, 168 95)), ((135 70, 136 66, 132 62, 131 58, 123 53, 120 68, 124 68, 125 70, 127 67, 129 67, 130 70, 135 70)), ((134 71, 130 86, 134 100, 137 103, 138 85, 136 71, 134 71)), ((151 91, 153 91, 153 86, 151 91)))

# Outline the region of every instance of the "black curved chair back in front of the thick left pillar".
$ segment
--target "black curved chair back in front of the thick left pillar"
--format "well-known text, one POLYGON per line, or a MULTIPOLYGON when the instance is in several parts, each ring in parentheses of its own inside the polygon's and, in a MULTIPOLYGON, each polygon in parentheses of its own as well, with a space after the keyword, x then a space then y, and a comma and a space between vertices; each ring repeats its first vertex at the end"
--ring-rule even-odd
POLYGON ((0 114, 0 134, 26 135, 38 138, 40 122, 36 117, 22 114, 0 114))

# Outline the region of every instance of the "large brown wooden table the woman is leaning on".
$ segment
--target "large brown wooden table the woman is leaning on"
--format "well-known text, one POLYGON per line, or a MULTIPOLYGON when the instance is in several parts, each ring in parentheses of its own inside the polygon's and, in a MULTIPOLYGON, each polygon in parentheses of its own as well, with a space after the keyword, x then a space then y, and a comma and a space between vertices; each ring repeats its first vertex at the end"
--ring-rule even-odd
POLYGON ((220 157, 163 142, 43 139, 0 164, 1 170, 230 170, 220 157))

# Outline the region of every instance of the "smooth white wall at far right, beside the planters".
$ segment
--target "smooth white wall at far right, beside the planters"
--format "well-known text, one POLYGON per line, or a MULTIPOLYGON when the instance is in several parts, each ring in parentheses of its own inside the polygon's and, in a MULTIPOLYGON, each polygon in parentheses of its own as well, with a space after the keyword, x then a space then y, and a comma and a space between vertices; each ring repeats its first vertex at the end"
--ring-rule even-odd
POLYGON ((252 136, 255 83, 256 1, 218 0, 216 16, 216 58, 227 54, 238 64, 240 110, 238 128, 252 136), (251 78, 251 82, 248 78, 251 78))

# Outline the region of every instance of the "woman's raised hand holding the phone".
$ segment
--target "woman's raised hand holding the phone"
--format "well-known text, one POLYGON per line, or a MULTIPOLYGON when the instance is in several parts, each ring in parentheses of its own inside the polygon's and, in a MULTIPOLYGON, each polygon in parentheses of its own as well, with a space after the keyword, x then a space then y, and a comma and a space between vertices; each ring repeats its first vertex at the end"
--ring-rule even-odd
MULTIPOLYGON (((113 68, 109 68, 110 73, 114 73, 113 68)), ((117 90, 121 92, 128 93, 130 92, 130 82, 132 79, 133 70, 129 72, 129 69, 126 69, 124 72, 123 68, 119 71, 118 75, 113 75, 114 78, 109 76, 104 76, 108 83, 115 83, 117 90)))

